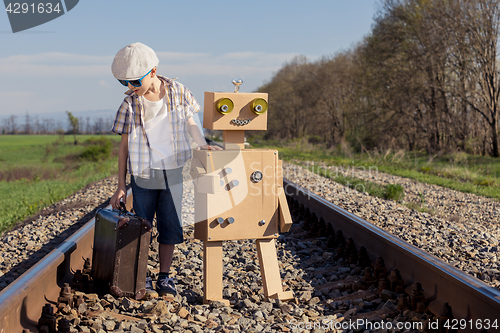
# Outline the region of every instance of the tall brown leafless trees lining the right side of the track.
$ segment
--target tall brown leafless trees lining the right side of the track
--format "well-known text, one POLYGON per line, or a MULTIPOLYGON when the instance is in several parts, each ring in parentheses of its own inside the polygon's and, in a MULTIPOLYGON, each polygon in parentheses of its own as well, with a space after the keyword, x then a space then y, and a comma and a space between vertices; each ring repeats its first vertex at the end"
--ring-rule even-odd
POLYGON ((269 93, 267 138, 498 157, 499 0, 383 0, 350 50, 296 57, 269 93))

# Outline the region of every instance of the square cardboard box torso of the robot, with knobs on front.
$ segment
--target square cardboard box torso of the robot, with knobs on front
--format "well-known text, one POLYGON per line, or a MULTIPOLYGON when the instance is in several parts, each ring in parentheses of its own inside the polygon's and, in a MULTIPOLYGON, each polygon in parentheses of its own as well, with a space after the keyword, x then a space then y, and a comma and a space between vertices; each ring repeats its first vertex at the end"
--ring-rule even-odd
POLYGON ((199 150, 193 156, 196 165, 192 175, 201 165, 206 173, 193 175, 195 238, 210 242, 278 236, 278 185, 283 180, 276 150, 199 150), (252 180, 255 172, 262 173, 262 180, 252 180))

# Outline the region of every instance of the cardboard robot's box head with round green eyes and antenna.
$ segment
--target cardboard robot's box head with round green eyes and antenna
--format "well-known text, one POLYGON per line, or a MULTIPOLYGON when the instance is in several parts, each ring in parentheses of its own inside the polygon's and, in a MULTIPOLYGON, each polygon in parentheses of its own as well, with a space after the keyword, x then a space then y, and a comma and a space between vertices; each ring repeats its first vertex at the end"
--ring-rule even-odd
POLYGON ((267 93, 205 92, 203 127, 211 130, 267 130, 267 93))

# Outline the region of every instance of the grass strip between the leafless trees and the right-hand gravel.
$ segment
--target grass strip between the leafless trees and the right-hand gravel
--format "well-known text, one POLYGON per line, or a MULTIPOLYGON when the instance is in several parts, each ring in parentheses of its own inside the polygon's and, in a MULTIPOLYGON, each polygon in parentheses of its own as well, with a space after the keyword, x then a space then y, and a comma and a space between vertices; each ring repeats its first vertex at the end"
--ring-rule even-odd
POLYGON ((344 170, 380 171, 456 191, 500 199, 500 159, 465 153, 428 155, 424 152, 384 151, 353 153, 348 147, 325 149, 305 140, 287 143, 257 141, 254 148, 278 149, 280 158, 324 162, 344 170))

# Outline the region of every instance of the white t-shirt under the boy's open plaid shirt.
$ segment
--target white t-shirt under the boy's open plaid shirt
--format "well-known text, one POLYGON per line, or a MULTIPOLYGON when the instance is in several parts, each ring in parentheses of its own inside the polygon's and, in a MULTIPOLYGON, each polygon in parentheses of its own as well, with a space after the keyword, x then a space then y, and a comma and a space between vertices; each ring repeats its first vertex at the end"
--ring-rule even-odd
POLYGON ((165 98, 157 102, 144 98, 144 128, 149 141, 151 169, 157 170, 178 168, 174 158, 172 126, 165 102, 165 98))

